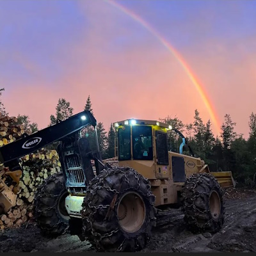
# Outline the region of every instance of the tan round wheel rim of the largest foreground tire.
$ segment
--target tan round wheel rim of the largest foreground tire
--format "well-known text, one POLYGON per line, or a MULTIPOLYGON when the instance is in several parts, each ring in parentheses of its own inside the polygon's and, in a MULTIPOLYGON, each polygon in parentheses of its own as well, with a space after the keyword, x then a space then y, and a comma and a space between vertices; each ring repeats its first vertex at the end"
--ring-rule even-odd
POLYGON ((120 226, 126 232, 138 231, 146 215, 146 207, 141 196, 133 191, 125 193, 118 204, 117 215, 120 226))

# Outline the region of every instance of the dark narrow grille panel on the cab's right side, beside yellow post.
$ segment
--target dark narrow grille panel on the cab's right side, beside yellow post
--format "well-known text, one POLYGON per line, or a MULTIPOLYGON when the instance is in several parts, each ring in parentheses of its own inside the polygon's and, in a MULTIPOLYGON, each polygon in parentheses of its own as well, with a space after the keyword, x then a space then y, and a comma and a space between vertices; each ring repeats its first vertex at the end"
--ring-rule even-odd
POLYGON ((157 131, 156 138, 157 164, 168 165, 167 134, 157 131))

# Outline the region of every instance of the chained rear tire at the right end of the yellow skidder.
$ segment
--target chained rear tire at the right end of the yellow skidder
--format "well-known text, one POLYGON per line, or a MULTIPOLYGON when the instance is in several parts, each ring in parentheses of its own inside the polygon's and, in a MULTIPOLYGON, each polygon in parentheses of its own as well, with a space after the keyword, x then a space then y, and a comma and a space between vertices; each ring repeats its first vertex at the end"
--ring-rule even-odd
POLYGON ((223 190, 209 173, 195 173, 182 189, 182 211, 193 233, 218 232, 224 222, 223 190))

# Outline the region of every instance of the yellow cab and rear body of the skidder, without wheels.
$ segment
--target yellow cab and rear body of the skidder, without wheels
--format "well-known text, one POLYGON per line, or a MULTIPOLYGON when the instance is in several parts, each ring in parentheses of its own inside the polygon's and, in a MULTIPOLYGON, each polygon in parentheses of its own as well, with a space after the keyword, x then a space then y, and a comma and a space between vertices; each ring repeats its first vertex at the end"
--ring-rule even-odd
POLYGON ((172 127, 168 124, 152 120, 132 119, 116 122, 115 128, 118 131, 115 145, 116 152, 118 152, 118 165, 134 168, 143 177, 150 180, 152 193, 156 196, 155 206, 179 202, 179 191, 184 186, 186 178, 193 173, 211 173, 216 177, 220 185, 225 188, 236 184, 231 172, 210 172, 209 166, 200 157, 186 156, 168 151, 167 132, 172 130, 172 127), (144 131, 143 127, 150 128, 145 128, 144 131), (127 129, 126 132, 125 129, 127 129), (149 131, 151 131, 151 134, 149 131), (134 142, 136 141, 134 133, 141 137, 139 140, 146 140, 147 138, 150 141, 148 144, 150 147, 145 147, 145 159, 143 157, 139 157, 140 159, 134 157, 134 143, 136 143, 134 142), (123 138, 124 136, 122 137, 122 134, 125 134, 126 139, 123 138), (124 148, 125 146, 127 147, 127 152, 129 150, 131 152, 131 155, 126 157, 127 159, 120 156, 120 152, 122 152, 120 147, 124 148), (129 150, 128 147, 130 147, 129 150), (148 157, 150 155, 151 157, 148 157))

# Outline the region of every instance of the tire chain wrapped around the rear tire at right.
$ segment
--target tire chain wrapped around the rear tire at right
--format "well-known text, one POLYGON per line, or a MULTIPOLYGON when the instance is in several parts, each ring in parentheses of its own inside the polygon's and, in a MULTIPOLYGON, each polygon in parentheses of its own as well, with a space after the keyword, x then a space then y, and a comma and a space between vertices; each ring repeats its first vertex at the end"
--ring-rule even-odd
MULTIPOLYGON (((186 182, 185 182, 185 186, 186 186, 186 184, 188 184, 188 182, 193 182, 194 186, 193 186, 193 188, 191 188, 191 189, 193 190, 194 196, 191 196, 191 197, 190 197, 190 198, 191 198, 191 201, 192 201, 191 205, 189 205, 189 204, 186 203, 186 202, 185 202, 184 205, 185 205, 186 207, 190 207, 190 208, 193 207, 193 210, 198 211, 198 212, 200 212, 200 213, 210 213, 209 210, 200 210, 200 209, 196 209, 195 204, 193 204, 193 201, 195 200, 195 198, 199 197, 200 195, 202 195, 202 194, 207 195, 207 196, 210 195, 210 193, 207 193, 207 192, 198 193, 198 191, 195 190, 195 188, 196 188, 197 185, 200 185, 200 184, 202 184, 202 183, 205 183, 205 179, 203 179, 202 176, 201 176, 201 177, 200 177, 200 176, 198 177, 198 175, 196 175, 196 174, 198 174, 198 173, 195 173, 195 174, 191 175, 191 176, 189 177, 189 179, 186 180, 186 182)), ((209 174, 209 173, 202 173, 202 174, 203 174, 203 177, 206 176, 207 178, 210 178, 210 179, 213 178, 213 179, 215 179, 215 178, 214 178, 211 174, 209 174), (209 176, 209 175, 211 175, 211 176, 209 176)), ((208 186, 211 186, 211 184, 210 184, 209 182, 206 182, 206 184, 207 184, 208 186)), ((218 183, 218 181, 217 181, 217 182, 214 182, 214 187, 213 187, 212 189, 220 189, 220 191, 221 191, 221 197, 222 197, 222 195, 223 195, 223 189, 221 188, 221 186, 220 186, 220 184, 218 183)), ((184 187, 184 188, 182 189, 182 193, 186 193, 185 191, 186 191, 186 187, 184 187), (184 191, 184 192, 183 192, 183 191, 184 191)), ((222 199, 222 202, 223 202, 223 204, 224 204, 224 200, 223 200, 223 199, 222 199)), ((186 210, 185 210, 184 205, 182 206, 182 211, 185 213, 186 210)), ((223 209, 225 209, 225 208, 223 207, 223 209)), ((224 213, 225 213, 225 211, 223 211, 223 214, 224 214, 224 213)), ((198 225, 198 222, 196 221, 196 218, 195 218, 194 216, 189 216, 189 217, 195 221, 196 227, 197 227, 198 229, 200 229, 200 230, 203 229, 203 231, 205 231, 207 227, 210 227, 210 226, 211 226, 210 223, 211 223, 212 220, 207 221, 207 223, 205 223, 204 228, 202 228, 200 225, 198 225)))

